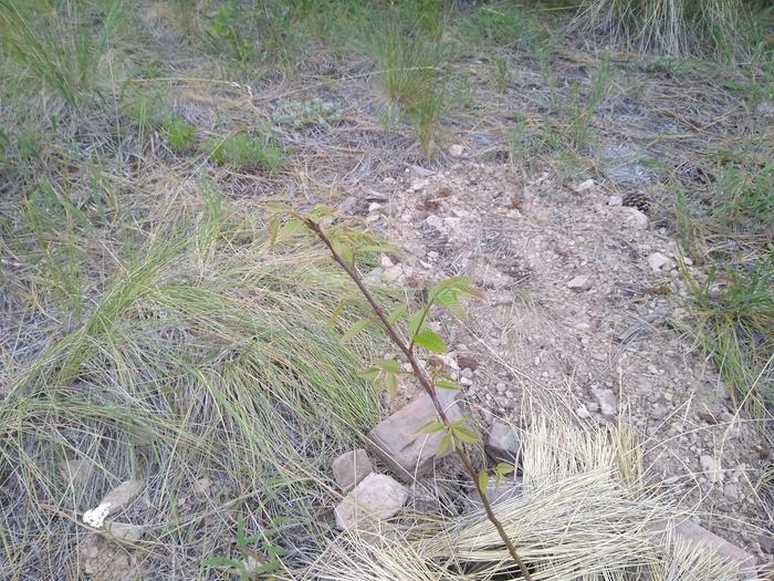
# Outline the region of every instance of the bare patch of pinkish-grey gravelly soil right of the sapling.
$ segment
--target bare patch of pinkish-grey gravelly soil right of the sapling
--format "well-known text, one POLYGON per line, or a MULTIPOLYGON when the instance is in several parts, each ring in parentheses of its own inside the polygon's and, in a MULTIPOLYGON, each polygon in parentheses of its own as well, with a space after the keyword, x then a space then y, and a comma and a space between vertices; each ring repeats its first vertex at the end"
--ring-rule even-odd
POLYGON ((649 485, 772 560, 772 519, 755 490, 772 450, 676 331, 688 318, 681 259, 646 214, 592 180, 523 180, 508 165, 463 158, 384 178, 342 209, 402 243, 372 281, 419 287, 468 273, 487 291, 464 324, 443 330, 454 349, 447 361, 485 422, 524 425, 556 406, 579 423, 626 422, 641 438, 649 485))

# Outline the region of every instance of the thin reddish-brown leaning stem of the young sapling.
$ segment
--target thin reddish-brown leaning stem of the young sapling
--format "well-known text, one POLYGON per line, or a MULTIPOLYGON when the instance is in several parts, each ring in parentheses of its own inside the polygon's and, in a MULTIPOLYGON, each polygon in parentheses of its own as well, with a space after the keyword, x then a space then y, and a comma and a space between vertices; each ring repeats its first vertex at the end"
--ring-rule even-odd
MULTIPOLYGON (((353 280, 353 282, 357 286, 358 290, 365 297, 366 301, 368 301, 368 304, 370 308, 374 310, 376 313, 376 317, 379 319, 379 322, 381 323, 381 326, 385 329, 387 332, 387 335, 389 336, 390 341, 395 343, 395 345, 400 349, 400 351, 404 353, 406 359, 408 360, 409 364, 411 365, 411 370, 414 371, 414 376, 417 377, 417 381, 419 381, 419 384, 422 386, 425 390, 425 393, 428 394, 430 400, 432 401, 432 405, 436 407, 436 412, 438 413, 438 417, 440 418, 441 423, 446 427, 447 432, 451 433, 451 422, 449 421, 449 416, 447 416, 446 411, 443 409, 443 406, 441 405, 440 401, 438 400, 438 395, 436 393, 436 387, 433 386, 432 382, 428 378, 427 374, 425 371, 421 369, 419 365, 419 361, 414 354, 414 349, 412 344, 406 345, 404 340, 400 338, 400 334, 398 331, 395 329, 393 323, 389 322, 389 319, 387 318, 387 314, 385 313, 384 309, 379 305, 378 302, 376 302, 376 299, 374 299, 373 294, 370 291, 366 288, 365 283, 360 279, 360 276, 358 272, 354 269, 354 267, 349 263, 347 263, 346 260, 342 258, 342 256, 336 251, 336 249, 333 247, 333 243, 331 242, 331 239, 323 232, 323 229, 320 227, 320 225, 308 218, 303 218, 304 224, 306 227, 312 230, 320 240, 327 247, 327 249, 331 252, 331 256, 333 259, 336 261, 336 263, 348 274, 348 277, 353 280)), ((462 463, 462 466, 468 473, 468 476, 470 479, 473 481, 473 485, 475 486, 475 491, 478 492, 479 497, 481 498, 481 504, 484 507, 484 511, 487 512, 487 518, 489 521, 494 526, 494 528, 498 531, 498 535, 500 535, 500 538, 503 540, 505 543, 505 547, 508 548, 508 552, 511 554, 511 558, 514 560, 514 562, 519 566, 519 569, 521 570, 522 575, 524 577, 525 581, 532 581, 532 575, 530 574, 529 569, 526 568, 526 564, 524 564, 524 561, 522 561, 521 557, 519 557, 519 552, 516 551, 516 548, 513 546, 513 541, 511 541, 511 538, 508 536, 508 532, 505 531, 505 528, 503 527, 502 522, 500 522, 500 519, 494 515, 494 510, 492 509, 492 504, 489 501, 489 497, 487 496, 487 490, 484 490, 481 485, 479 484, 479 478, 478 475, 475 474, 475 468, 473 468, 473 463, 470 460, 470 457, 468 456, 468 453, 464 450, 462 447, 462 444, 459 443, 457 439, 454 442, 454 452, 457 453, 457 456, 459 457, 460 461, 462 463)))

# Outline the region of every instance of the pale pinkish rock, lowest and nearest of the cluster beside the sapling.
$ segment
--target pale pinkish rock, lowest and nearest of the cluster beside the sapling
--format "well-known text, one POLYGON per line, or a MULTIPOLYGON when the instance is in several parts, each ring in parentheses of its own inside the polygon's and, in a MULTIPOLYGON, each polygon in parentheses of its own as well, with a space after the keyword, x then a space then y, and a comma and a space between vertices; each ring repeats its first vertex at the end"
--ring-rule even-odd
POLYGON ((335 509, 342 530, 373 530, 381 519, 396 515, 408 500, 408 489, 384 474, 369 474, 335 509))

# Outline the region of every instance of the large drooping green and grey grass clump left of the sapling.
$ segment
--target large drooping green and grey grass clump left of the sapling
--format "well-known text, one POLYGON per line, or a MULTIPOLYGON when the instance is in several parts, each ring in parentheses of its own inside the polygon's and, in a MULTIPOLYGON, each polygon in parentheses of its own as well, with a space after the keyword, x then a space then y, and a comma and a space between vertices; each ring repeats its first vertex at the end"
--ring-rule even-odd
POLYGON ((4 578, 79 578, 81 516, 128 478, 148 484, 117 519, 147 527, 130 550, 156 578, 198 579, 206 558, 233 556, 240 517, 249 535, 283 522, 272 543, 292 563, 330 528, 332 457, 379 417, 356 377, 368 336, 342 345, 327 322, 348 286, 326 257, 270 250, 259 222, 213 201, 159 214, 81 315, 46 304, 34 271, 7 289, 4 578), (85 480, 64 460, 83 460, 85 480))

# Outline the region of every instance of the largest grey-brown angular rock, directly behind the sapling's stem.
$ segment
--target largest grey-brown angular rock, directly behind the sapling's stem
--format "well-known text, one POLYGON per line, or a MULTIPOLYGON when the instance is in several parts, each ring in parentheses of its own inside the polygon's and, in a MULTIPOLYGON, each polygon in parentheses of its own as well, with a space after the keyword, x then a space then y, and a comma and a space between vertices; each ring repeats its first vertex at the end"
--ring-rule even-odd
MULTIPOLYGON (((462 417, 457 397, 460 392, 439 390, 438 400, 450 421, 462 417)), ((368 452, 378 456, 393 471, 407 481, 427 474, 436 458, 452 454, 448 449, 437 454, 443 432, 428 434, 422 428, 437 419, 436 407, 430 396, 421 394, 401 407, 368 434, 368 452)))

